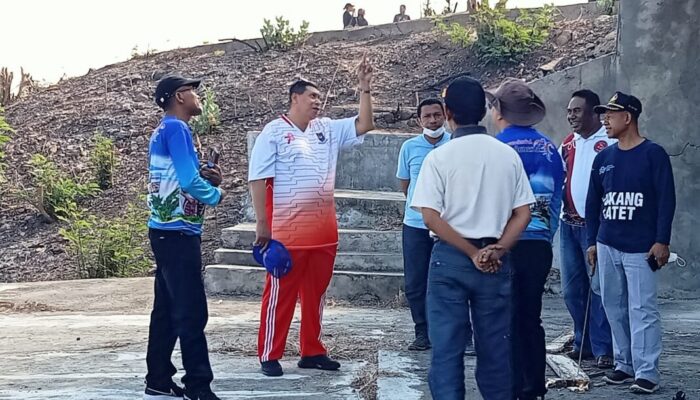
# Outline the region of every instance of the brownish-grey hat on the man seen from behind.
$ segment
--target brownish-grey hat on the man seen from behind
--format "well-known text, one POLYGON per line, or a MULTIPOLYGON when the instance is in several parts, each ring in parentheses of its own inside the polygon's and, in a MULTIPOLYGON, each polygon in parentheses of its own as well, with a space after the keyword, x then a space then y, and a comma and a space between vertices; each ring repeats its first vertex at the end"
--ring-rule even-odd
POLYGON ((546 114, 542 100, 520 79, 507 78, 495 92, 486 92, 486 98, 513 125, 536 125, 546 114))

